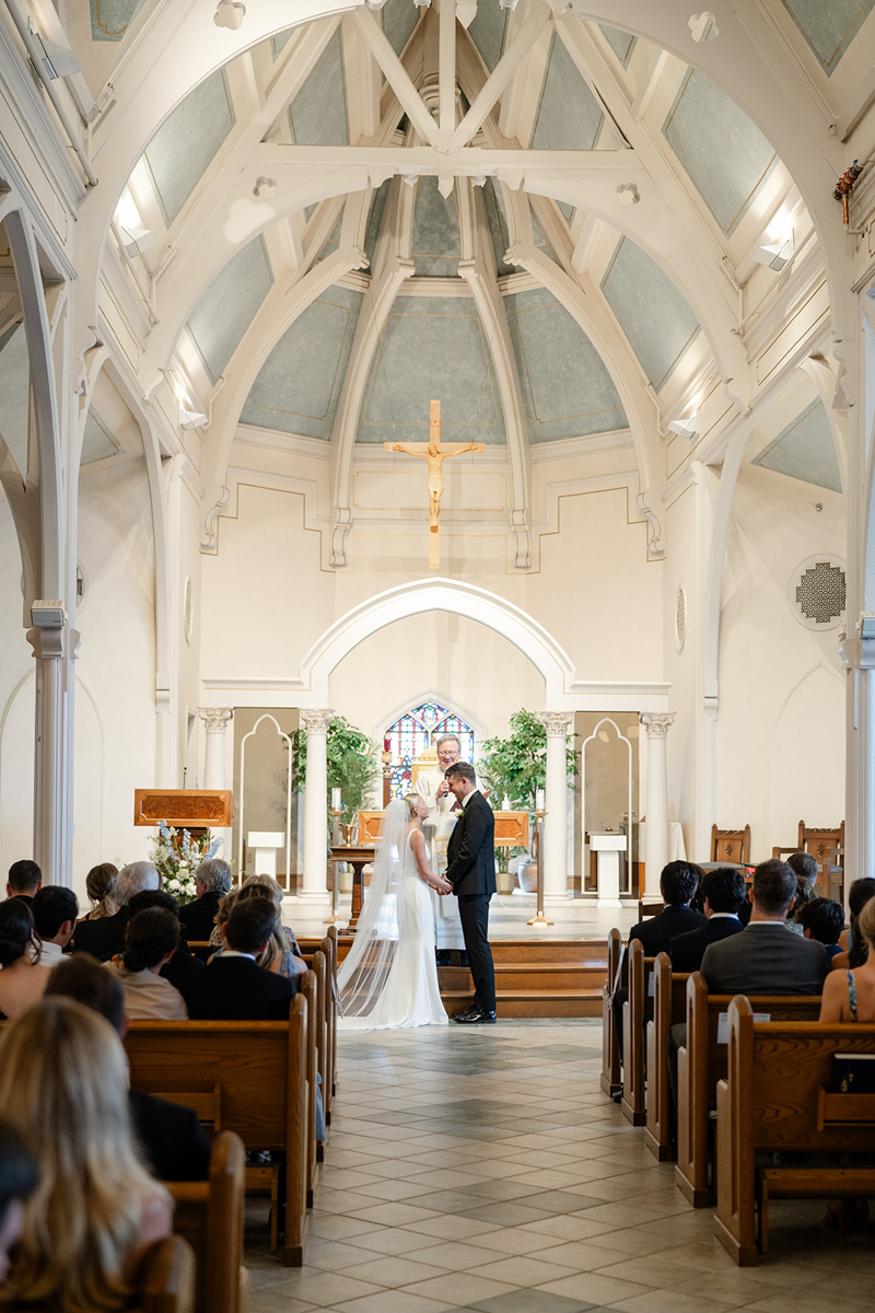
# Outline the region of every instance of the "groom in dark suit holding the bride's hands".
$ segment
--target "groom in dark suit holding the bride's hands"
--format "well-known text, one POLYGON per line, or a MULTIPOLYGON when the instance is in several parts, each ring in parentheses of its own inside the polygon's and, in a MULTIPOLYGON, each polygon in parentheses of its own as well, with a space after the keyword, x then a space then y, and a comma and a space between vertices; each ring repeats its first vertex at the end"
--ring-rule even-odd
POLYGON ((450 792, 460 806, 459 819, 446 850, 443 878, 459 899, 459 916, 468 966, 474 976, 474 1007, 455 1012, 463 1025, 492 1025, 496 1020, 495 970, 489 948, 489 898, 496 892, 495 815, 476 785, 467 762, 455 762, 446 772, 450 792))

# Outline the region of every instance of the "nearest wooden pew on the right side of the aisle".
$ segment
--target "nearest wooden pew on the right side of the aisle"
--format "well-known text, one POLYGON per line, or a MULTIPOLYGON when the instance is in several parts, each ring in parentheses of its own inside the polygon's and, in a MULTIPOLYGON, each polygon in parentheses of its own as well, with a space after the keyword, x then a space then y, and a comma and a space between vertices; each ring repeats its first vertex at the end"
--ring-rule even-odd
MULTIPOLYGON (((758 1010, 758 1008, 757 1008, 758 1010)), ((763 1152, 875 1150, 875 1095, 830 1094, 833 1054, 875 1053, 875 1024, 808 1022, 757 1024, 743 995, 729 1007, 727 1079, 718 1085, 718 1211, 714 1230, 740 1267, 757 1262, 756 1192, 761 1194, 762 1250, 767 1201, 787 1197, 875 1195, 875 1167, 756 1170, 763 1152)))

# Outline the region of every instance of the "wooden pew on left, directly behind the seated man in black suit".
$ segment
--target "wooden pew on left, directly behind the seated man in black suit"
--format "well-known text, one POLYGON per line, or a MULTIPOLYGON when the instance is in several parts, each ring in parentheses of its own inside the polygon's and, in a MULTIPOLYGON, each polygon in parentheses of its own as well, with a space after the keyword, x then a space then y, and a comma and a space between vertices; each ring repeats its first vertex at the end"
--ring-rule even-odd
POLYGON ((134 1022, 125 1039, 131 1087, 193 1107, 249 1150, 286 1154, 283 1262, 303 1263, 307 1233, 307 1002, 289 1022, 134 1022))

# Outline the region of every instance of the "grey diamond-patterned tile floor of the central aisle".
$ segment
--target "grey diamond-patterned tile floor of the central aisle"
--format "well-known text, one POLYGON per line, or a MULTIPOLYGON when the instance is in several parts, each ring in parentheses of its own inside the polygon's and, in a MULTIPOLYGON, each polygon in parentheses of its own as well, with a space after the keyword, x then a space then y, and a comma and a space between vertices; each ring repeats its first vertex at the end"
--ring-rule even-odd
POLYGON ((601 1022, 341 1036, 306 1266, 247 1213, 251 1313, 819 1313, 871 1306, 875 1245, 773 1203, 737 1268, 601 1092, 601 1022))

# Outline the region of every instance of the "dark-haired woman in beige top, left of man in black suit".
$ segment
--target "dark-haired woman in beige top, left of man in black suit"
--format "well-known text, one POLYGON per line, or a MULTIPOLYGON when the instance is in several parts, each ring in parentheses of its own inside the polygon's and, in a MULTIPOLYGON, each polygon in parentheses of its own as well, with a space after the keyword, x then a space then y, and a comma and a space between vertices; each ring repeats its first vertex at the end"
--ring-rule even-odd
POLYGON ((125 949, 106 969, 122 982, 132 1022, 188 1022, 182 995, 160 974, 178 941, 180 923, 167 907, 147 907, 129 920, 125 949))

